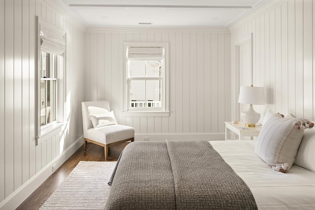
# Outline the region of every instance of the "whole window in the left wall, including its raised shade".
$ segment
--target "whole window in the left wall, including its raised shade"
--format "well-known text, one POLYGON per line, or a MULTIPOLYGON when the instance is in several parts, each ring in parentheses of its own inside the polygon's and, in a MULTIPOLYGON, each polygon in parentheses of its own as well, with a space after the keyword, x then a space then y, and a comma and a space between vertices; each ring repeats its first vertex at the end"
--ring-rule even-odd
POLYGON ((62 126, 64 52, 65 33, 38 19, 38 141, 62 126))

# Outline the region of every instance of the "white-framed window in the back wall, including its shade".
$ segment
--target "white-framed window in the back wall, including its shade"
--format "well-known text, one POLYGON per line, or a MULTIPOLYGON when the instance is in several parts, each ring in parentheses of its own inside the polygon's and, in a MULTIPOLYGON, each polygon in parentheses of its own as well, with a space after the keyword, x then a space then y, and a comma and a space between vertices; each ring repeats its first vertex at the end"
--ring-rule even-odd
POLYGON ((125 43, 125 111, 168 112, 167 43, 125 43))

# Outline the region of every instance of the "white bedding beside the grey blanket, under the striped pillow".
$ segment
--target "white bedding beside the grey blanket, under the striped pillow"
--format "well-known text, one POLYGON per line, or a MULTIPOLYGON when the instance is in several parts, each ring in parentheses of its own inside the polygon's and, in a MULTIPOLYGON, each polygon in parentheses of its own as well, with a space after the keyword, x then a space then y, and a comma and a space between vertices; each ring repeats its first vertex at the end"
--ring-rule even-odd
POLYGON ((254 153, 252 140, 210 143, 250 187, 258 210, 315 210, 314 173, 296 165, 285 174, 273 171, 254 153))

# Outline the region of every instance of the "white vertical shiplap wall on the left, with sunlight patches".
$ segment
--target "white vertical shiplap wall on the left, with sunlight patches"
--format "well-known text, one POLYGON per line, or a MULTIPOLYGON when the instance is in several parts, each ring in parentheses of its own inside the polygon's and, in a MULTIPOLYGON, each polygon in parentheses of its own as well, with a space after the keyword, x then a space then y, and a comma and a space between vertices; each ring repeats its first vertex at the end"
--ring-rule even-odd
POLYGON ((83 135, 84 30, 39 0, 0 0, 0 203, 83 135), (66 31, 68 124, 35 146, 36 15, 66 31))

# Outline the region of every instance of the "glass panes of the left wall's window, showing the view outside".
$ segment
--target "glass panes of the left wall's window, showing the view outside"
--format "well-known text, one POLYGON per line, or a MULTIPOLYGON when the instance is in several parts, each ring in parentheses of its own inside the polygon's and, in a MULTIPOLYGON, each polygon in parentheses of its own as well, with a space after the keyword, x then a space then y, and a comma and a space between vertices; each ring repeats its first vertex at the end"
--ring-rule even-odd
POLYGON ((40 126, 56 120, 57 66, 59 56, 40 53, 40 126))

